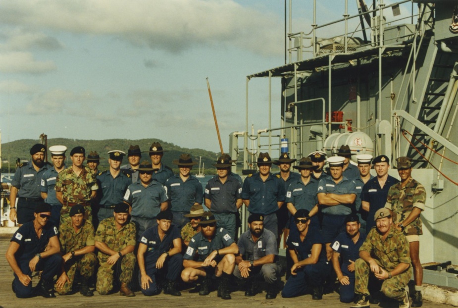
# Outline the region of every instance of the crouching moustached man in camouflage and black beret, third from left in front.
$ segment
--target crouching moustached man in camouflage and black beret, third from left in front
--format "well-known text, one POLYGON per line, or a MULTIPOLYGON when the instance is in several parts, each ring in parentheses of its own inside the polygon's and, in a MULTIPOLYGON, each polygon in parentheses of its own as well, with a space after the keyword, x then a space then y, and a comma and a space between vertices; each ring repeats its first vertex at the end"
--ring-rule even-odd
POLYGON ((117 204, 113 216, 102 220, 96 232, 95 241, 100 263, 97 292, 106 295, 113 289, 116 268, 121 282, 120 295, 135 296, 128 287, 135 265, 134 248, 137 235, 134 223, 128 222, 129 205, 117 204))

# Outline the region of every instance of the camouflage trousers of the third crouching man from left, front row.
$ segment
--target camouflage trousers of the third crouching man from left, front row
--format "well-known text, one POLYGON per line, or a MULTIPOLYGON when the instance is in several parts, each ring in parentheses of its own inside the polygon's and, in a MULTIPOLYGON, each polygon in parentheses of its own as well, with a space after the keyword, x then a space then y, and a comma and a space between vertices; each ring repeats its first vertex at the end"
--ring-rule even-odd
POLYGON ((134 253, 129 253, 127 255, 120 257, 114 265, 106 263, 106 259, 101 260, 99 258, 99 262, 100 267, 99 271, 97 272, 96 289, 100 295, 106 295, 113 289, 114 271, 116 267, 121 267, 121 272, 118 272, 119 280, 121 283, 130 283, 130 281, 132 280, 132 273, 134 271, 134 266, 136 262, 134 253))

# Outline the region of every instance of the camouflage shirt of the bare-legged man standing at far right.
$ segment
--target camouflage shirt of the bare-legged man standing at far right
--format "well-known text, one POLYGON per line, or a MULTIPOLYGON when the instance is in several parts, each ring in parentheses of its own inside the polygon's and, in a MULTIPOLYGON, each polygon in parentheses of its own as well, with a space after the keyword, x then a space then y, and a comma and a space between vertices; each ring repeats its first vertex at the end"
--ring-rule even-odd
MULTIPOLYGON (((425 188, 413 178, 410 178, 405 187, 401 183, 390 187, 385 207, 393 211, 393 223, 400 223, 410 215, 414 207, 418 207, 423 211, 425 209, 425 202, 425 188)), ((420 216, 405 227, 405 235, 423 234, 420 216)))

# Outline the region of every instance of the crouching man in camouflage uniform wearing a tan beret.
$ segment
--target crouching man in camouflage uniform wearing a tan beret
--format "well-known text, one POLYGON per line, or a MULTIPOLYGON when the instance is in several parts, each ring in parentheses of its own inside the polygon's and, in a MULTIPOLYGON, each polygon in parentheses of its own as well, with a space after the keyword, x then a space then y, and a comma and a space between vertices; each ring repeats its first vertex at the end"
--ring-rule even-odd
POLYGON ((369 307, 369 275, 382 280, 382 293, 408 308, 407 283, 410 280, 410 257, 404 234, 393 224, 391 211, 380 208, 375 212, 376 228, 372 228, 359 248, 355 262, 355 301, 353 308, 369 307))

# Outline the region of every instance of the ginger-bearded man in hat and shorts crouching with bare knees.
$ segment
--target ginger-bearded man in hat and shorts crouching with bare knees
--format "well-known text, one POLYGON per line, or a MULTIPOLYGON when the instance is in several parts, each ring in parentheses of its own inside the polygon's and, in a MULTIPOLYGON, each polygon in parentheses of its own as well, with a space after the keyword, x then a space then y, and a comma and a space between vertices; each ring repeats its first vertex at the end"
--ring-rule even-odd
POLYGON ((228 281, 234 271, 235 255, 239 253, 239 248, 224 228, 216 229, 216 219, 211 212, 204 212, 199 224, 201 232, 191 239, 183 257, 185 269, 181 278, 184 282, 192 282, 204 277, 199 295, 208 295, 211 275, 214 273, 219 278, 218 297, 230 300, 228 281))

